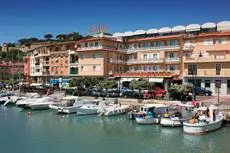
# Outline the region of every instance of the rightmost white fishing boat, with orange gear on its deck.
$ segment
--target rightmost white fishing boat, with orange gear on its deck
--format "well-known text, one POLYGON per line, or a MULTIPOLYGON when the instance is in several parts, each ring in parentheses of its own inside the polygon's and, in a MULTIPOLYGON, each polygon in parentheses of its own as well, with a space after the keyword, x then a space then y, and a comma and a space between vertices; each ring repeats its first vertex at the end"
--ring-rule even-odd
MULTIPOLYGON (((204 112, 207 108, 200 108, 198 111, 204 112)), ((209 116, 204 118, 203 115, 199 117, 199 120, 191 119, 183 123, 183 130, 188 134, 203 134, 211 131, 215 131, 221 128, 223 123, 223 115, 218 113, 218 108, 215 106, 209 107, 209 116)))

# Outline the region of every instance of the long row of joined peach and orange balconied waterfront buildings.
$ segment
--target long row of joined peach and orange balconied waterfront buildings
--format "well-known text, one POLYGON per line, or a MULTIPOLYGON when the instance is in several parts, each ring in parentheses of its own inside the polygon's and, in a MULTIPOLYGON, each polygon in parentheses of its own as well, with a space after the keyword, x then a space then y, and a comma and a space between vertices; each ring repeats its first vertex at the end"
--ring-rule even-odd
POLYGON ((121 84, 146 78, 162 83, 196 82, 196 86, 230 94, 230 21, 160 29, 99 34, 75 42, 53 43, 30 52, 30 76, 107 77, 121 84), (195 81, 196 80, 196 81, 195 81))

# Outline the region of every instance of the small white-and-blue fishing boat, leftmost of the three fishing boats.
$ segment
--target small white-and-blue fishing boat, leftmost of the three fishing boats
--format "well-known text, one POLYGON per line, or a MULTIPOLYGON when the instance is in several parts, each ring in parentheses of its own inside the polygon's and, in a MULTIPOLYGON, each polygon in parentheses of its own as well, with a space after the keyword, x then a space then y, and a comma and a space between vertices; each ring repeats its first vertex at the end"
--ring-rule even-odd
POLYGON ((167 111, 168 105, 145 104, 134 114, 138 124, 158 124, 161 116, 167 111))

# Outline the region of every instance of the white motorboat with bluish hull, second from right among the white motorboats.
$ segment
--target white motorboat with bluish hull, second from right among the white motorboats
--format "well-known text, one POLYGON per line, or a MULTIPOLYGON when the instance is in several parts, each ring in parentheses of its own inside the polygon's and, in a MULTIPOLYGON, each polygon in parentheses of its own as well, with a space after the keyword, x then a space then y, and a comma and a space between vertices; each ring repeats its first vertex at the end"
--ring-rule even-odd
POLYGON ((77 115, 94 115, 98 114, 98 102, 92 104, 83 104, 77 108, 77 115))

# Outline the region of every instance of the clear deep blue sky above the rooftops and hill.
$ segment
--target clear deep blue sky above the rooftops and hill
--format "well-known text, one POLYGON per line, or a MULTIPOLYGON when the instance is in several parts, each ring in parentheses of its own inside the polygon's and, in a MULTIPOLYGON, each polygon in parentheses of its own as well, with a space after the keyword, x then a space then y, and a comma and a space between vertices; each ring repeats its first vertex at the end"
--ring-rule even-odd
POLYGON ((110 33, 230 20, 230 0, 3 0, 0 43, 44 34, 110 33))

